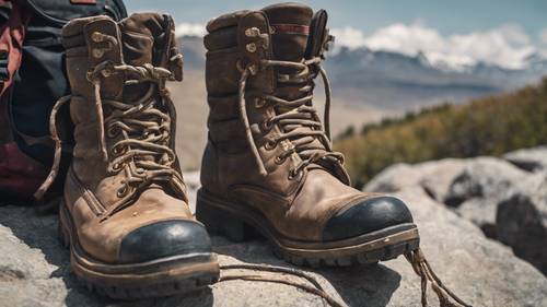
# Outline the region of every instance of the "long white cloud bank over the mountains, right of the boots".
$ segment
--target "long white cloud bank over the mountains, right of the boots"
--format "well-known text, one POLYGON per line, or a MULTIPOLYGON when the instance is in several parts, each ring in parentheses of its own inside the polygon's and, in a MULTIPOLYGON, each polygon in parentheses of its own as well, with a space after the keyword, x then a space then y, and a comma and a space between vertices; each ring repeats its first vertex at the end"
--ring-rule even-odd
MULTIPOLYGON (((525 58, 544 50, 532 42, 524 29, 514 24, 450 36, 441 35, 423 23, 393 24, 365 36, 351 27, 333 29, 337 46, 368 47, 416 56, 423 52, 433 64, 462 68, 477 62, 497 64, 510 69, 524 67, 525 58)), ((547 49, 547 28, 539 39, 547 49)), ((538 40, 539 40, 538 39, 538 40)))

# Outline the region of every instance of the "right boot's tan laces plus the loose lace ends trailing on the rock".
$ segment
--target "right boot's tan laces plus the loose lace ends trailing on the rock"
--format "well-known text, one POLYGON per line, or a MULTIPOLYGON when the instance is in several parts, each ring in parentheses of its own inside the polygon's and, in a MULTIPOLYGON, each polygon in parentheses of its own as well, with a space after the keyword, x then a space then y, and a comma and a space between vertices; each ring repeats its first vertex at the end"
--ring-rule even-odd
MULTIPOLYGON (((256 32, 256 31, 255 31, 256 32)), ((241 114, 241 119, 243 121, 245 128, 245 134, 247 139, 247 143, 251 146, 255 161, 258 165, 259 173, 263 176, 267 176, 268 173, 264 165, 264 162, 258 152, 257 145, 253 138, 253 131, 251 129, 249 119, 246 110, 246 101, 245 101, 245 90, 246 90, 246 81, 251 75, 255 75, 260 69, 266 69, 268 67, 275 68, 288 68, 296 71, 292 74, 279 74, 277 82, 278 84, 305 84, 299 88, 299 92, 306 93, 304 97, 288 101, 283 99, 276 95, 267 95, 263 94, 259 97, 256 97, 255 107, 260 108, 266 104, 271 104, 275 108, 280 107, 284 111, 281 114, 277 114, 265 122, 263 122, 263 128, 265 130, 269 130, 277 125, 281 134, 276 137, 272 140, 269 140, 266 143, 266 149, 272 149, 278 143, 283 141, 289 141, 289 146, 283 146, 283 152, 276 158, 276 162, 282 162, 288 156, 292 154, 298 154, 301 158, 300 163, 290 170, 289 178, 296 177, 299 174, 302 174, 302 170, 306 168, 310 164, 316 163, 321 160, 330 160, 337 163, 344 163, 344 156, 341 153, 333 152, 331 143, 330 143, 330 129, 329 129, 329 111, 330 111, 330 85, 328 82, 327 74, 325 70, 321 67, 321 61, 323 57, 315 57, 312 59, 304 59, 301 62, 292 62, 292 61, 279 61, 279 60, 260 60, 258 63, 249 63, 244 69, 241 69, 242 75, 238 83, 238 108, 241 114), (325 111, 323 121, 325 127, 321 123, 321 119, 317 116, 316 109, 312 106, 313 101, 313 79, 315 79, 318 72, 323 79, 324 87, 325 87, 325 111), (287 109, 289 109, 287 111, 287 109), (309 129, 300 129, 300 128, 309 128, 309 129), (306 138, 311 137, 311 138, 306 138), (323 146, 310 146, 315 139, 319 139, 323 146)), ((241 63, 238 63, 241 67, 241 63)), ((281 93, 283 90, 277 88, 278 93, 281 93)), ((469 307, 463 299, 457 297, 452 291, 450 291, 437 276, 433 272, 433 269, 427 261, 423 252, 420 248, 408 251, 405 253, 405 258, 412 265, 416 274, 421 279, 421 305, 422 307, 429 306, 427 298, 428 283, 431 284, 431 288, 435 292, 439 297, 439 304, 441 307, 469 307), (451 298, 455 302, 453 303, 451 298)), ((232 281, 232 280, 243 280, 243 281, 252 281, 252 282, 272 282, 272 283, 282 283, 295 286, 311 294, 317 295, 324 299, 324 303, 333 307, 345 306, 339 303, 336 298, 329 295, 321 284, 311 275, 300 271, 288 268, 279 268, 279 267, 270 267, 264 264, 236 264, 236 265, 222 265, 221 269, 223 271, 229 270, 254 270, 254 271, 266 271, 266 272, 277 272, 288 275, 293 275, 306 280, 312 285, 296 283, 290 281, 288 279, 275 279, 270 276, 264 275, 234 275, 229 274, 221 276, 219 282, 232 281)))

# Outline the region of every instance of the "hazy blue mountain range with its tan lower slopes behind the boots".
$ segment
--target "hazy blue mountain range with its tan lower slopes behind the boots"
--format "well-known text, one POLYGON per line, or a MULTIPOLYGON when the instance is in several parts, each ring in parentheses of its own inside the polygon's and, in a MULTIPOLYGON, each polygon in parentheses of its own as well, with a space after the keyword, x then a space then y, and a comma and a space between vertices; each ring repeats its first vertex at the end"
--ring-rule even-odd
MULTIPOLYGON (((184 153, 183 166, 197 168, 207 138, 206 50, 199 36, 183 36, 178 42, 184 54, 185 81, 171 84, 183 134, 178 146, 184 153)), ((333 88, 333 135, 349 126, 359 129, 386 116, 508 92, 537 83, 547 75, 547 59, 540 55, 526 58, 522 69, 507 69, 484 62, 466 67, 442 61, 433 64, 423 54, 408 56, 365 47, 339 47, 327 55, 323 66, 333 88)), ((317 83, 314 94, 322 109, 323 90, 321 81, 317 83)))

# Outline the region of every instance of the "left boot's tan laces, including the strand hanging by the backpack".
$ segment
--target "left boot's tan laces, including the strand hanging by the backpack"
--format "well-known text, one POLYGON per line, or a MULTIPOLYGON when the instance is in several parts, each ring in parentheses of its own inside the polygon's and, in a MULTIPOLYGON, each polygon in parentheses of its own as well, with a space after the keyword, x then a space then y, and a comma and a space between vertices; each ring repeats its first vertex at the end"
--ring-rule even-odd
MULTIPOLYGON (((171 60, 177 60, 177 56, 171 60)), ((116 191, 119 200, 103 214, 103 219, 107 219, 130 204, 136 192, 152 182, 166 182, 175 193, 186 199, 183 177, 173 167, 176 154, 172 149, 174 140, 171 139, 172 117, 170 115, 174 116, 175 110, 165 87, 165 82, 171 78, 171 71, 152 64, 142 67, 115 66, 109 61, 104 61, 88 72, 88 80, 93 83, 95 90, 100 152, 107 163, 109 175, 116 175, 120 172, 124 172, 125 175, 116 191), (119 73, 126 76, 126 85, 149 82, 150 86, 146 94, 137 102, 131 103, 102 98, 103 79, 101 76, 119 73), (156 99, 158 92, 160 99, 156 99), (160 110, 158 101, 164 102, 170 115, 160 110), (104 107, 110 109, 106 118, 103 113, 104 107), (106 137, 120 139, 110 146, 109 153, 106 137)), ((57 132, 56 118, 58 110, 70 98, 70 95, 60 98, 55 104, 49 118, 50 134, 56 144, 54 164, 48 177, 35 193, 37 199, 42 198, 50 187, 59 169, 61 140, 57 132)))

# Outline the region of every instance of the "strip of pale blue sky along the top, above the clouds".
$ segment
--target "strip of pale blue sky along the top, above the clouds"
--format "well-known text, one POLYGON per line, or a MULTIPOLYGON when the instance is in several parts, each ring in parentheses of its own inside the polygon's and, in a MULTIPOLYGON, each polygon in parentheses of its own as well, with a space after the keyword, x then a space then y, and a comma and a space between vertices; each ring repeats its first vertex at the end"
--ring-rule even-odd
MULTIPOLYGON (((547 27, 546 0, 364 0, 364 1, 301 1, 330 13, 334 27, 352 26, 370 33, 393 23, 421 21, 443 35, 467 33, 520 24, 529 35, 537 36, 547 27)), ((259 9, 274 1, 251 0, 126 0, 130 11, 162 11, 175 16, 178 23, 206 23, 219 14, 259 9)))

